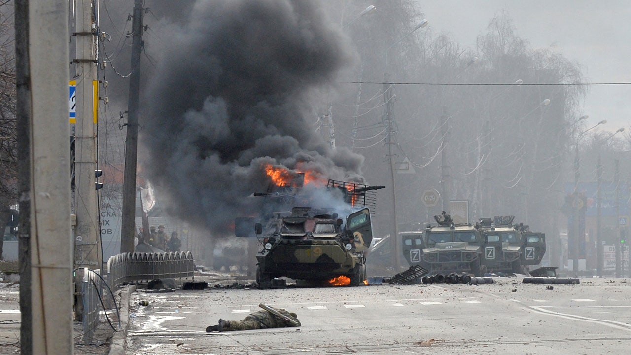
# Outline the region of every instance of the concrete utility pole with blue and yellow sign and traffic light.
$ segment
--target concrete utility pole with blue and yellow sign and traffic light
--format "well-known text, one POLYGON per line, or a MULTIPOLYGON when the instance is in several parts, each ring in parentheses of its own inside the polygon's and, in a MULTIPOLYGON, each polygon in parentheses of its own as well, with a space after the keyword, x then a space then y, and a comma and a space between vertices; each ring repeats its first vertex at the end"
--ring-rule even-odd
MULTIPOLYGON (((97 30, 91 0, 76 2, 76 125, 74 138, 74 209, 76 239, 74 267, 98 269, 102 266, 98 192, 95 188, 97 170, 97 30)), ((83 272, 77 272, 81 284, 83 272)), ((81 319, 81 303, 77 304, 77 320, 81 319)))

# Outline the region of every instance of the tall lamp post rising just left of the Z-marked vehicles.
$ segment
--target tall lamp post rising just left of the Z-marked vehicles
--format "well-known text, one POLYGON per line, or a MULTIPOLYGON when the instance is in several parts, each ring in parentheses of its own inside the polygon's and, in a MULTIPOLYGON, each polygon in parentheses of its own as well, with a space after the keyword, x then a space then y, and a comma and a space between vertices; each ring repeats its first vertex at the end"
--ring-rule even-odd
POLYGON ((419 28, 427 26, 427 23, 428 21, 423 19, 416 25, 416 27, 413 28, 413 30, 408 32, 406 35, 401 37, 401 39, 399 39, 396 43, 394 43, 393 45, 388 47, 388 49, 386 49, 386 73, 384 73, 384 93, 383 93, 384 105, 386 107, 386 112, 384 114, 384 123, 387 125, 387 130, 388 130, 387 137, 386 137, 386 144, 388 146, 388 159, 389 159, 389 165, 390 165, 390 183, 392 186, 390 236, 392 239, 391 243, 394 243, 393 245, 394 248, 392 248, 392 251, 394 251, 393 262, 394 262, 394 267, 396 270, 395 274, 401 271, 401 254, 403 254, 403 246, 401 245, 401 243, 399 243, 399 226, 398 226, 399 222, 397 220, 397 214, 396 214, 396 179, 394 178, 394 174, 396 171, 396 166, 395 166, 396 162, 394 161, 394 152, 392 151, 392 145, 394 144, 394 141, 393 141, 394 100, 392 100, 392 98, 394 97, 394 88, 392 87, 392 84, 390 83, 390 76, 387 73, 388 59, 390 55, 390 50, 394 46, 401 43, 402 40, 406 39, 409 35, 411 35, 413 32, 415 32, 419 28))

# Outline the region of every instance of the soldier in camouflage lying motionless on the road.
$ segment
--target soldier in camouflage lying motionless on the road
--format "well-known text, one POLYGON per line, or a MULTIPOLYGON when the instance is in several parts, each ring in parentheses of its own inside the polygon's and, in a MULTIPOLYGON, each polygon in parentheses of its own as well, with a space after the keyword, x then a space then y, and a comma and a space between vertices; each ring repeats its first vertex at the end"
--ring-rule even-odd
POLYGON ((261 311, 250 313, 242 320, 223 320, 218 325, 206 327, 206 333, 229 332, 232 330, 252 330, 266 328, 300 327, 298 315, 283 308, 272 308, 259 304, 261 311))

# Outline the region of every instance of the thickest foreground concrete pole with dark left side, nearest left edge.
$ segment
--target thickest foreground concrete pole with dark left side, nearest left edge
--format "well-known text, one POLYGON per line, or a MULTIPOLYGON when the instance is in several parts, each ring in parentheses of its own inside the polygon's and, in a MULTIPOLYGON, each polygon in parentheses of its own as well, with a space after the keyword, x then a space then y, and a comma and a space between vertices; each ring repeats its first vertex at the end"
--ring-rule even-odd
POLYGON ((15 1, 20 351, 73 353, 68 1, 15 1))

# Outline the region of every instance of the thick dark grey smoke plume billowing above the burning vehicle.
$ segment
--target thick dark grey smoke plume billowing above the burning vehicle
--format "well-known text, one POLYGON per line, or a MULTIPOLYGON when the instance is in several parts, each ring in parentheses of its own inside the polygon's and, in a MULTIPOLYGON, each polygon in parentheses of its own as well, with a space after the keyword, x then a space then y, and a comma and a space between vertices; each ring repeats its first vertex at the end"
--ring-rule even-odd
MULTIPOLYGON (((197 1, 163 24, 140 140, 180 218, 227 235, 254 213, 266 164, 363 183, 363 157, 315 133, 314 104, 352 56, 317 1, 197 1), (163 33, 163 32, 162 32, 163 33)), ((324 100, 326 101, 326 99, 324 100)))

